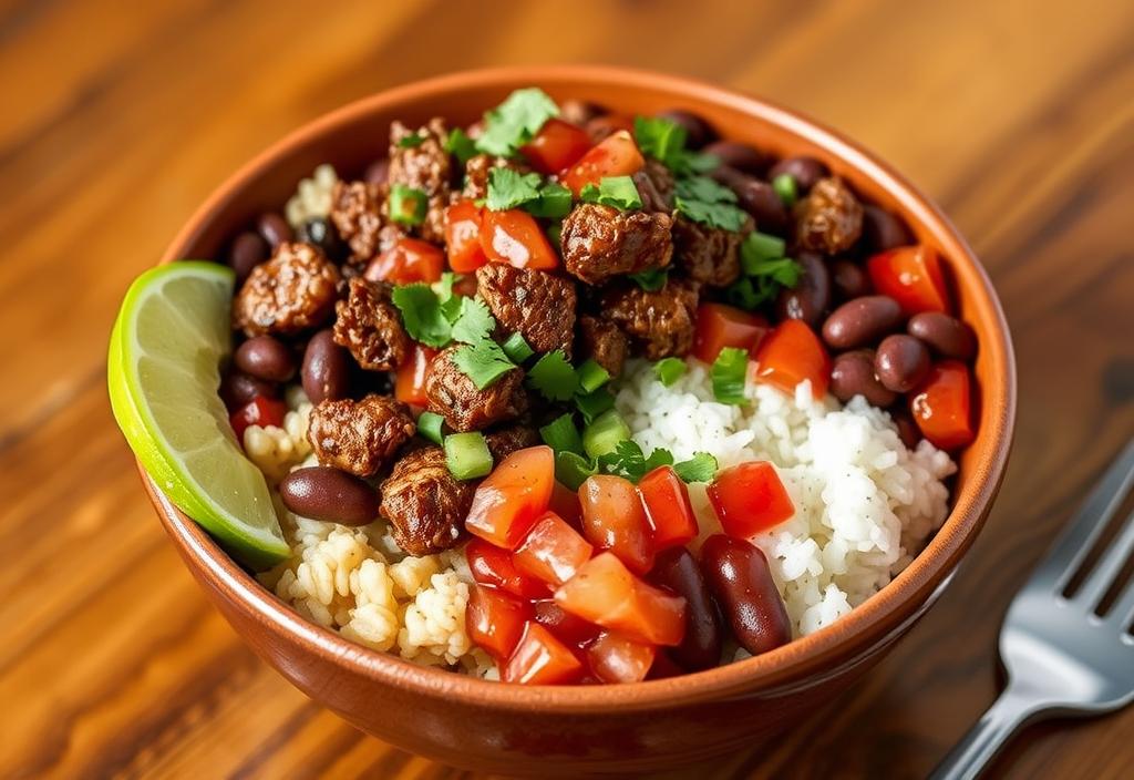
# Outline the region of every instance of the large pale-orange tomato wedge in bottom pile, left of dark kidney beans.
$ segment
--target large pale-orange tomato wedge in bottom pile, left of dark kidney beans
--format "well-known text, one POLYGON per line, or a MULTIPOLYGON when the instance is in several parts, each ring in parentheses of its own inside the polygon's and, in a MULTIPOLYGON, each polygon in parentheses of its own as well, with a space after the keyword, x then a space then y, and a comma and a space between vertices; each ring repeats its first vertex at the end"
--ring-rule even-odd
POLYGON ((556 603, 572 614, 651 645, 676 645, 685 635, 685 599, 648 585, 610 552, 583 563, 559 586, 556 603))

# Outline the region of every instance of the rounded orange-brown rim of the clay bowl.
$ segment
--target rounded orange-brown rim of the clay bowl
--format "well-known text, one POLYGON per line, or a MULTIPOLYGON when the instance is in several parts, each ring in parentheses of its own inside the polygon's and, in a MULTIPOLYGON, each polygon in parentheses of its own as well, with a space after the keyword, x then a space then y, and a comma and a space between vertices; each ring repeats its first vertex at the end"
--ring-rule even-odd
POLYGON ((397 107, 411 99, 432 96, 438 99, 438 112, 443 115, 445 96, 472 86, 499 87, 503 92, 532 84, 561 85, 565 88, 587 84, 598 88, 611 83, 668 92, 675 101, 686 98, 712 103, 720 109, 758 117, 778 126, 787 136, 815 144, 843 164, 857 169, 894 197, 907 219, 926 226, 942 238, 958 283, 965 287, 971 298, 973 314, 990 323, 995 333, 993 339, 981 342, 989 370, 981 390, 981 427, 971 446, 976 448, 980 457, 973 459, 971 469, 974 473, 965 490, 955 497, 945 524, 914 561, 879 593, 833 625, 770 653, 706 671, 631 686, 526 687, 416 665, 396 655, 356 645, 330 629, 308 622, 263 588, 200 526, 176 509, 138 465, 151 502, 187 563, 193 561, 198 576, 226 592, 263 630, 290 635, 306 653, 349 668, 376 685, 442 696, 465 705, 548 713, 602 712, 610 709, 649 711, 795 684, 807 677, 821 677, 820 672, 826 667, 837 667, 839 662, 854 658, 855 652, 858 658, 869 654, 887 633, 915 612, 908 609, 909 601, 920 594, 923 600, 931 597, 925 594, 937 588, 954 570, 958 558, 979 532, 1004 476, 1016 414, 1015 358, 1008 325, 991 281, 948 218, 897 171, 836 130, 762 99, 687 77, 608 66, 505 67, 459 71, 414 82, 333 110, 272 144, 213 192, 174 239, 161 262, 184 256, 181 247, 197 238, 210 218, 228 207, 251 180, 270 169, 279 158, 370 112, 397 107))

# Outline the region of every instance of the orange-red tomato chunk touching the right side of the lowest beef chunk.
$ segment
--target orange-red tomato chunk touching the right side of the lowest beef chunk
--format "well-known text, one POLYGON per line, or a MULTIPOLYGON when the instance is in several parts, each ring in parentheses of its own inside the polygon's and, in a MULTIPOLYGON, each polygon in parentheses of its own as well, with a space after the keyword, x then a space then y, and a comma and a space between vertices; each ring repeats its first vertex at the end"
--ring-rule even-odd
POLYGON ((555 472, 550 447, 513 452, 476 488, 465 527, 498 548, 515 550, 548 510, 555 472))

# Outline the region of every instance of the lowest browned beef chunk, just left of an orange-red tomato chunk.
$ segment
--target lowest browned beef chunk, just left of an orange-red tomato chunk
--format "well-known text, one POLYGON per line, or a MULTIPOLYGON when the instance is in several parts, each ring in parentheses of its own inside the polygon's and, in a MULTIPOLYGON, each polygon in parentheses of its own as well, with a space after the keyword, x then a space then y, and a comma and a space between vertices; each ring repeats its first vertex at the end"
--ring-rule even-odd
POLYGON ((460 539, 476 485, 449 473, 445 451, 426 447, 401 457, 382 481, 379 514, 411 556, 448 550, 460 539))

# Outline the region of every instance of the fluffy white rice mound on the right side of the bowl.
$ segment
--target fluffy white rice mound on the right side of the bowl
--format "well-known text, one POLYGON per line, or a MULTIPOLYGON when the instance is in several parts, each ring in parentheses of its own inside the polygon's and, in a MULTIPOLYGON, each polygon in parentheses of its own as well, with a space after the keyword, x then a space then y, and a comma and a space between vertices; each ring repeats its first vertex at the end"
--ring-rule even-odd
MULTIPOLYGON (((751 541, 768 556, 796 636, 830 625, 889 583, 940 527, 956 470, 928 441, 913 451, 890 416, 863 398, 846 407, 815 401, 809 382, 788 397, 748 382, 744 406, 713 400, 704 364, 665 387, 652 365, 634 361, 616 405, 634 440, 649 453, 670 450, 683 460, 711 452, 721 468, 770 460, 795 505, 795 515, 751 541)), ((720 532, 703 484, 691 485, 701 539, 720 532)))

